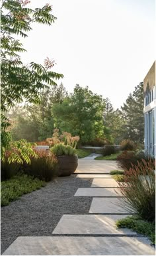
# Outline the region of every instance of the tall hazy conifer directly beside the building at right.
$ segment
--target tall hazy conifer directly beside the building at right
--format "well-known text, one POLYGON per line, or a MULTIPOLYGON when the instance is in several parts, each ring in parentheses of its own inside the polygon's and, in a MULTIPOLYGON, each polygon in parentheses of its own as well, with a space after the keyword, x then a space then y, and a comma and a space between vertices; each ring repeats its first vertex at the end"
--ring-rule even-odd
POLYGON ((133 94, 128 96, 122 109, 124 119, 124 139, 131 139, 137 143, 143 143, 144 139, 144 117, 143 117, 143 83, 135 87, 133 94))

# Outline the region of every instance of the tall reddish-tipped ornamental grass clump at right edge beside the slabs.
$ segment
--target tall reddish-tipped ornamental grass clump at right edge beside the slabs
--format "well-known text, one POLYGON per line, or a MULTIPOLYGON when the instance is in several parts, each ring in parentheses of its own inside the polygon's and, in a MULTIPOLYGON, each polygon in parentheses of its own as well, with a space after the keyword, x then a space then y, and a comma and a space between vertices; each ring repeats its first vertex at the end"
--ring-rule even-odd
POLYGON ((124 196, 124 208, 137 214, 143 220, 155 220, 155 161, 141 160, 125 173, 125 181, 119 184, 119 191, 124 196))

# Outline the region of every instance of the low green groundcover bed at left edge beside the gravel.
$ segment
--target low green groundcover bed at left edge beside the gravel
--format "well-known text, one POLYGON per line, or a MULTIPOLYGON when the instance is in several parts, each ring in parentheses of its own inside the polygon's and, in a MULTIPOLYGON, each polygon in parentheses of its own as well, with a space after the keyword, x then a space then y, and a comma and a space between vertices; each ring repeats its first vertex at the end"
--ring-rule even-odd
POLYGON ((28 194, 45 185, 45 181, 26 174, 13 176, 10 180, 1 182, 1 206, 7 206, 23 194, 28 194))

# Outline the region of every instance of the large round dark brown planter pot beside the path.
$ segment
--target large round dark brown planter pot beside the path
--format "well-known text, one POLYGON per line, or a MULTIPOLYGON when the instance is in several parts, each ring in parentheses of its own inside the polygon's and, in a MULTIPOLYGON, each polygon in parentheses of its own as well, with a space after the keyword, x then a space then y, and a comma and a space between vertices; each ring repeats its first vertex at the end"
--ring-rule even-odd
POLYGON ((78 157, 77 155, 73 156, 58 156, 58 168, 59 168, 59 176, 69 176, 73 172, 75 172, 78 166, 78 157))

